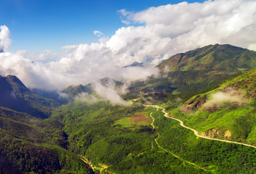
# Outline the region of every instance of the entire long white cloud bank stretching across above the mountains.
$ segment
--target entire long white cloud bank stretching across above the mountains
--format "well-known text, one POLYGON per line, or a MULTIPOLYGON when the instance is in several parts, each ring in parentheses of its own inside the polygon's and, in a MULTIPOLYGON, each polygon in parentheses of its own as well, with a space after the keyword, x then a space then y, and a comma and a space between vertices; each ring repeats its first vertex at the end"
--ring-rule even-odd
POLYGON ((16 75, 29 88, 62 90, 104 77, 145 80, 158 75, 154 66, 161 60, 209 44, 256 50, 256 1, 182 2, 119 13, 130 26, 119 28, 111 37, 93 31, 101 37, 97 43, 64 46, 65 55, 50 50, 32 56, 26 50, 9 52, 10 32, 1 26, 0 74, 16 75), (121 68, 134 61, 148 66, 121 68))

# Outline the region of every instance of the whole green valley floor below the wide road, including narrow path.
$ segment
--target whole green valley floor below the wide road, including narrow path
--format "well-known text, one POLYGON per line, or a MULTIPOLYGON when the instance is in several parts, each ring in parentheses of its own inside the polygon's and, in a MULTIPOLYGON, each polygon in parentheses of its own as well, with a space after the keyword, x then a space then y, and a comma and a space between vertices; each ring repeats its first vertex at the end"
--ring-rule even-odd
POLYGON ((256 148, 198 138, 154 107, 76 101, 52 118, 65 125, 70 151, 109 173, 255 171, 256 148))

